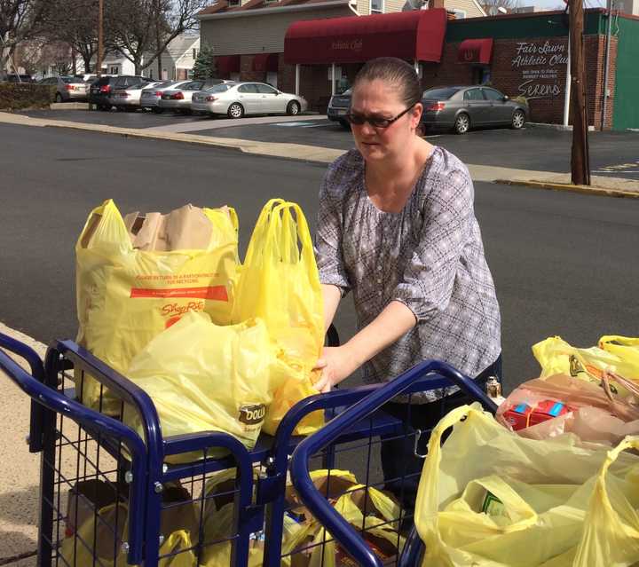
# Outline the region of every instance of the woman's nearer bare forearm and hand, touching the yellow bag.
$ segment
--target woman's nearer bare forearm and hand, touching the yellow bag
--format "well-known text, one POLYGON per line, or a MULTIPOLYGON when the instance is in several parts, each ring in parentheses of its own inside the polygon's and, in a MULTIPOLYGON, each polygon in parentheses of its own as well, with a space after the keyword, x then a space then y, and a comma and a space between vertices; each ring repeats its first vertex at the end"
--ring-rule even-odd
MULTIPOLYGON (((327 286, 322 286, 327 287, 327 286)), ((335 288, 336 289, 336 288, 335 288)), ((337 289, 339 292, 339 290, 337 289)), ((326 318, 326 305, 325 305, 326 318)), ((332 319, 332 318, 331 318, 332 319)), ((413 311, 404 303, 391 301, 383 311, 351 338, 339 347, 325 347, 317 365, 322 374, 315 388, 327 392, 355 372, 359 366, 373 358, 398 338, 405 335, 416 324, 413 311)))

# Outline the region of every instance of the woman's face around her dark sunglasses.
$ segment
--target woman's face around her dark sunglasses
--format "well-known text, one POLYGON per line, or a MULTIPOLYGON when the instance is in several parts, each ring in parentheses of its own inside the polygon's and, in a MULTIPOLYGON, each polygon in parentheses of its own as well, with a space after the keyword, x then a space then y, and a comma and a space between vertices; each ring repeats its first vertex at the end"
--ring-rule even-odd
MULTIPOLYGON (((392 119, 406 110, 406 103, 398 96, 398 87, 381 80, 362 81, 353 89, 351 114, 392 119)), ((422 104, 417 103, 406 114, 387 128, 364 122, 351 124, 355 145, 367 161, 392 160, 406 152, 415 136, 422 115, 422 104)))

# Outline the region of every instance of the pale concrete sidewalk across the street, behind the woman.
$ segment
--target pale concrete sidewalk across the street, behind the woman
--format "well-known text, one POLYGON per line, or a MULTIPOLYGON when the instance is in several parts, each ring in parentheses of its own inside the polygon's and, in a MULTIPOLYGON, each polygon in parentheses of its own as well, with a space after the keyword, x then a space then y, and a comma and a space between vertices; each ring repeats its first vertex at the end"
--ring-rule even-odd
MULTIPOLYGON (((317 120, 317 116, 299 117, 298 120, 317 120)), ((268 120, 268 119, 266 119, 268 120)), ((290 118, 288 118, 290 120, 290 118)), ((58 127, 73 130, 99 131, 131 138, 154 138, 234 149, 245 154, 263 155, 269 157, 295 159, 330 163, 343 154, 343 150, 331 148, 304 146, 301 144, 281 144, 275 142, 258 142, 239 138, 215 138, 190 134, 188 130, 201 129, 200 126, 177 124, 175 127, 157 127, 136 130, 131 128, 117 128, 101 124, 86 124, 82 122, 68 122, 31 118, 23 114, 0 112, 0 123, 20 124, 35 127, 58 127), (182 130, 182 131, 170 131, 182 130)), ((570 174, 557 174, 551 171, 533 171, 528 169, 501 168, 485 165, 468 165, 470 176, 475 181, 501 183, 506 185, 525 185, 540 189, 588 193, 614 197, 639 198, 639 180, 622 179, 619 177, 592 177, 591 185, 571 185, 570 174)), ((1 564, 1 563, 0 563, 1 564)))

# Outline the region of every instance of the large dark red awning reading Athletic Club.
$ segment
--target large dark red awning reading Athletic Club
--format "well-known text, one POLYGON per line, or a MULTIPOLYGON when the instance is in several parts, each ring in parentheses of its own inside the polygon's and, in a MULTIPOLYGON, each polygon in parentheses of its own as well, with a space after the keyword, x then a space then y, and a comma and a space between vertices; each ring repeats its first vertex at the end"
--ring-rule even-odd
POLYGON ((289 64, 359 63, 376 57, 439 61, 446 10, 296 21, 284 38, 289 64))

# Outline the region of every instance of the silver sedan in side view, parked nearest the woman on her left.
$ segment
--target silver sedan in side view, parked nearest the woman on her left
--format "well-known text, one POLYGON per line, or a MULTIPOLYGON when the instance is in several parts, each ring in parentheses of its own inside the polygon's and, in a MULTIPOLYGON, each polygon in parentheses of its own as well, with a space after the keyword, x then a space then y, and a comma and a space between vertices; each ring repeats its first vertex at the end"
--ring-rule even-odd
POLYGON ((290 114, 304 112, 306 100, 278 91, 266 83, 225 83, 193 95, 192 108, 211 115, 241 118, 245 114, 290 114))

